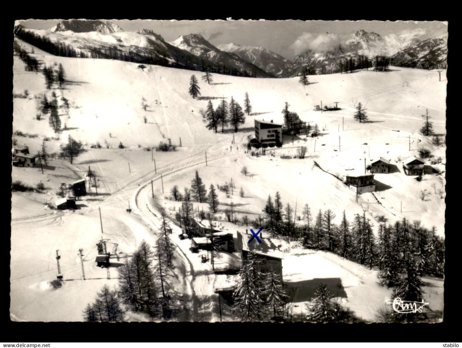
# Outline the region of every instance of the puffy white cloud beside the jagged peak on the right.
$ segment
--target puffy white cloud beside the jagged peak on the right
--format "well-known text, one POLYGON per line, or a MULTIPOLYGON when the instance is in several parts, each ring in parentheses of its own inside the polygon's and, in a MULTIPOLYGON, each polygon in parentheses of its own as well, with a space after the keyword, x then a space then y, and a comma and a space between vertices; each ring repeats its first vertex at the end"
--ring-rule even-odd
POLYGON ((309 49, 316 52, 327 52, 336 49, 341 44, 345 44, 345 40, 345 35, 329 32, 322 34, 304 32, 297 37, 290 47, 294 50, 295 55, 300 55, 309 49))

